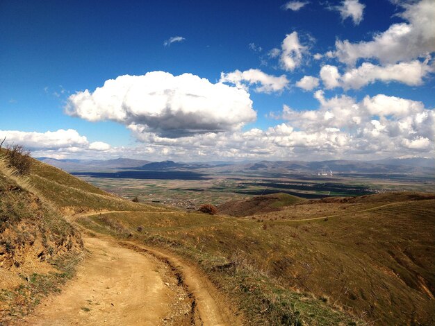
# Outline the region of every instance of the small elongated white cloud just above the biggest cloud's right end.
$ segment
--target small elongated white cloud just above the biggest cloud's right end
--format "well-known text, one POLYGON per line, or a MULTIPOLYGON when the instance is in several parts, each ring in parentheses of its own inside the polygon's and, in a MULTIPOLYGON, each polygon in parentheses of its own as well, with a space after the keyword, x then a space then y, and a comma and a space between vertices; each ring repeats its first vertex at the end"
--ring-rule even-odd
POLYGON ((256 92, 272 93, 281 92, 288 85, 286 75, 272 76, 259 69, 245 71, 236 70, 228 74, 220 74, 220 83, 232 83, 239 88, 248 89, 248 85, 257 85, 256 92))

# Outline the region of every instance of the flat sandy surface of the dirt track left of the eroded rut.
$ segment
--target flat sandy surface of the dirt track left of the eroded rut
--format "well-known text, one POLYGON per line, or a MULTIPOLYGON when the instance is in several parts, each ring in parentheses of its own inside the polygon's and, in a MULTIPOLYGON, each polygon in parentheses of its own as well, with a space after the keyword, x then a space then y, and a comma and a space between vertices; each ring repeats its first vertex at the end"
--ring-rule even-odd
POLYGON ((90 254, 28 325, 191 325, 192 299, 170 266, 108 239, 83 236, 90 254))

